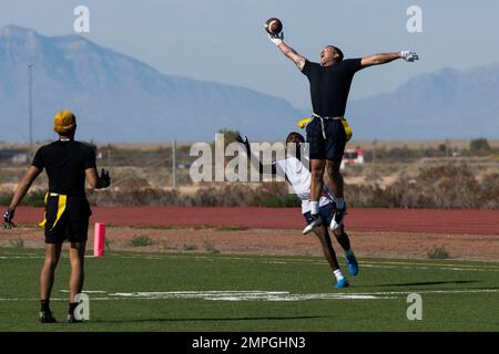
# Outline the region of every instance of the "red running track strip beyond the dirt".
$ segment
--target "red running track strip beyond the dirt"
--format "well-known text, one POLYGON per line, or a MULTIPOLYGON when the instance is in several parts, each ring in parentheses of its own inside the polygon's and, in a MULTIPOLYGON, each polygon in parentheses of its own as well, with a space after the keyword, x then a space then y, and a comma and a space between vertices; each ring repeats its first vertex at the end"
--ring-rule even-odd
MULTIPOLYGON (((92 208, 91 222, 135 226, 240 226, 247 228, 301 229, 298 208, 227 207, 118 207, 92 208)), ((19 207, 16 219, 34 223, 41 208, 19 207)), ((499 210, 458 209, 349 209, 346 226, 355 231, 499 235, 499 210)))

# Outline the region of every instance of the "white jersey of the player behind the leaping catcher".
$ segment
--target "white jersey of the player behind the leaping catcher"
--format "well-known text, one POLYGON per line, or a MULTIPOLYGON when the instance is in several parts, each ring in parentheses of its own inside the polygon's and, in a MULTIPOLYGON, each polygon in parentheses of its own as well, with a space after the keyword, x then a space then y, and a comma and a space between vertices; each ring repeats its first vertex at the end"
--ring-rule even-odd
MULTIPOLYGON (((302 200, 302 214, 310 211, 310 171, 296 157, 276 160, 275 166, 277 174, 283 177, 286 176, 293 190, 302 200)), ((326 185, 323 184, 319 207, 328 205, 334 200, 334 196, 329 192, 326 185)))

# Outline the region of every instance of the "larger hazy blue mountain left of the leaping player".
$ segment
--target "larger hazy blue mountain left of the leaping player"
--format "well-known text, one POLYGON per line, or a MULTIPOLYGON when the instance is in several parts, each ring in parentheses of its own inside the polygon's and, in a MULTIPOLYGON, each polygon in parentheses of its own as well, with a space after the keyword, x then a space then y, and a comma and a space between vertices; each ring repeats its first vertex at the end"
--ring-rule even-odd
POLYGON ((221 128, 282 139, 301 117, 279 97, 165 75, 82 37, 10 25, 0 30, 0 140, 28 139, 28 63, 37 140, 54 136, 52 117, 64 107, 79 118, 79 138, 96 142, 213 140, 221 128))

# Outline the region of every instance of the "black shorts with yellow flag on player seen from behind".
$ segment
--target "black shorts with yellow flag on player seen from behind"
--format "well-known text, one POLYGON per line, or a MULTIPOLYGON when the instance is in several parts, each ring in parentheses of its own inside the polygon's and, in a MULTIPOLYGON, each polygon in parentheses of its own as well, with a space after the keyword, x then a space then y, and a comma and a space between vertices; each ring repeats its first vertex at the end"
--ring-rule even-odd
POLYGON ((85 242, 90 211, 85 197, 49 196, 45 204, 45 243, 85 242))

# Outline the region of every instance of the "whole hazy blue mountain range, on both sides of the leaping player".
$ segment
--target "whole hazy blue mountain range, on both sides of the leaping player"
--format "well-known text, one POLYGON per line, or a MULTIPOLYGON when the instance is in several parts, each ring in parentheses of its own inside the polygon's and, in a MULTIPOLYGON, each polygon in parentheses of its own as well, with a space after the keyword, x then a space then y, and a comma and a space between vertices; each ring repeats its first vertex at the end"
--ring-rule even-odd
MULTIPOLYGON (((28 63, 35 140, 54 137, 61 108, 75 112, 79 138, 95 142, 212 140, 221 128, 276 140, 303 117, 279 97, 166 75, 79 35, 9 25, 0 30, 0 140, 28 140, 28 63)), ((352 101, 347 115, 357 140, 499 137, 498 98, 499 64, 445 69, 352 101)))

